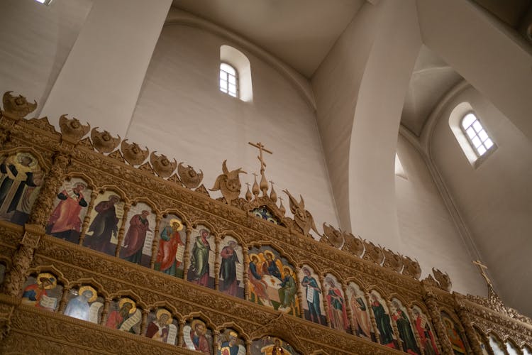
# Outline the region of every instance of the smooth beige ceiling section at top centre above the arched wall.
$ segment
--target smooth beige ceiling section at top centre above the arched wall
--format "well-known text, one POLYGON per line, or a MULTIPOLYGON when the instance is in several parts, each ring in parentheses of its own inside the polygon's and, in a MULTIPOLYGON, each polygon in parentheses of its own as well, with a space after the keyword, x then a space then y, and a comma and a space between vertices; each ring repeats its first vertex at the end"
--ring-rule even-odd
POLYGON ((365 0, 174 0, 311 77, 365 0))

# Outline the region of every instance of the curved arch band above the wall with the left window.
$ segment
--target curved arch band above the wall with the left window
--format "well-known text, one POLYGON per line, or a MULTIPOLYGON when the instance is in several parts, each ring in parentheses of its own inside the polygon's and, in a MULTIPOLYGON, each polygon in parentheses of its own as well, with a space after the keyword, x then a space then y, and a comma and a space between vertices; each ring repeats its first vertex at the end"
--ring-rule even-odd
POLYGON ((248 40, 236 35, 235 33, 222 28, 221 26, 215 25, 209 21, 206 21, 202 18, 196 17, 190 13, 184 11, 172 11, 168 13, 167 19, 165 21, 165 26, 170 25, 180 25, 180 26, 191 26, 194 28, 200 28, 204 31, 209 31, 215 35, 219 35, 231 42, 240 45, 245 50, 248 50, 253 55, 256 55, 258 58, 264 60, 267 64, 274 67, 279 73, 281 73, 287 80, 293 85, 293 87, 301 94, 301 97, 305 100, 311 109, 316 110, 316 100, 314 99, 314 92, 311 88, 311 84, 305 77, 293 70, 288 65, 284 64, 277 58, 275 58, 270 53, 267 53, 262 48, 250 43, 248 40))

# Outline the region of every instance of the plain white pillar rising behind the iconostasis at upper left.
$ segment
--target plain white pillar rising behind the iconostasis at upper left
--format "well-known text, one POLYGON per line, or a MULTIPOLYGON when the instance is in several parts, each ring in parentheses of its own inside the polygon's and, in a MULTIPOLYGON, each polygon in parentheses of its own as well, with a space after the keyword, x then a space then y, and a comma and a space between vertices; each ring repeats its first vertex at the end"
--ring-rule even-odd
POLYGON ((125 136, 172 0, 95 0, 40 116, 125 136))

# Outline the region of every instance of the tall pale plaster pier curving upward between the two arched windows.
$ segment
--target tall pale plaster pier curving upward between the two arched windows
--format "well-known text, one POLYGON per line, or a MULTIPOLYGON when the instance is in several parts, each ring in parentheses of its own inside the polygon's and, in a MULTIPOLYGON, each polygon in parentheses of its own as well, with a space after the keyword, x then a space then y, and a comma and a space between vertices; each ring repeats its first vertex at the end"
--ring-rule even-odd
POLYGON ((341 224, 395 250, 395 142, 421 47, 416 16, 414 1, 366 2, 312 78, 341 224))

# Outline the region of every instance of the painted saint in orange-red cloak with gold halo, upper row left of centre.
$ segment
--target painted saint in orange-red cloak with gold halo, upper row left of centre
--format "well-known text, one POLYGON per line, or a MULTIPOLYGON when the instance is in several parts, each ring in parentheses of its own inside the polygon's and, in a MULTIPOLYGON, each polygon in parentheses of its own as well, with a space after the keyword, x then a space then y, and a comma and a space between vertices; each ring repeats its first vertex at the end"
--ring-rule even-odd
POLYGON ((162 229, 155 270, 172 276, 177 275, 177 268, 181 265, 181 261, 177 260, 177 249, 179 246, 184 246, 179 235, 182 229, 183 224, 179 219, 170 219, 170 225, 162 229))

